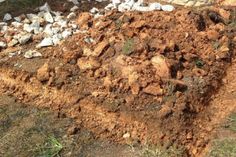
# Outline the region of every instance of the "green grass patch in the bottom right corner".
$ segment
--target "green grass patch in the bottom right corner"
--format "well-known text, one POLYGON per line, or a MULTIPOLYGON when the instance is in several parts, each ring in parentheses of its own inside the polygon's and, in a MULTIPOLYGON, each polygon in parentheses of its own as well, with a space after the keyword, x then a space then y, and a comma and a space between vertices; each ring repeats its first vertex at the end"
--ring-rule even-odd
POLYGON ((223 139, 213 141, 209 157, 235 157, 236 139, 223 139))

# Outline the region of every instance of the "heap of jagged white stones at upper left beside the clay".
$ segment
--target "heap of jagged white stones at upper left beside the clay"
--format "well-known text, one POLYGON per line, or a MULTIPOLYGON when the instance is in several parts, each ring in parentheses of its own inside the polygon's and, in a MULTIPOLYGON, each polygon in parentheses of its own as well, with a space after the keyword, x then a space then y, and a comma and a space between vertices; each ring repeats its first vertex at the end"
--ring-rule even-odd
POLYGON ((78 32, 75 11, 71 8, 68 16, 52 11, 47 3, 38 8, 37 14, 26 14, 12 17, 5 14, 0 22, 0 48, 23 45, 32 39, 38 39, 37 48, 57 45, 63 39, 78 32), (12 21, 12 22, 9 22, 12 21))

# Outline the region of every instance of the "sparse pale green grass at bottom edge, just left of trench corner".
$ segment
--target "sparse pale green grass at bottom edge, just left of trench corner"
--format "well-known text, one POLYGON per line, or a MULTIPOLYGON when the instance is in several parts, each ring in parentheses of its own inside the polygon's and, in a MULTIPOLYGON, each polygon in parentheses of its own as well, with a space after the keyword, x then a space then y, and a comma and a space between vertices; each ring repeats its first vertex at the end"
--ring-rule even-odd
POLYGON ((168 149, 162 146, 146 146, 141 151, 142 157, 182 157, 183 149, 171 146, 168 149))

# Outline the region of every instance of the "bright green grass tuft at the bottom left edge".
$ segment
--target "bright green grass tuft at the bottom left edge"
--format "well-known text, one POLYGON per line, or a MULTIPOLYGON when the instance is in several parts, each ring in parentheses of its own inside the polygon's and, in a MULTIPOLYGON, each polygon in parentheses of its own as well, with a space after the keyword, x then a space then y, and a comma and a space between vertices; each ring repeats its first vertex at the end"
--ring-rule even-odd
POLYGON ((49 136, 45 143, 35 149, 37 157, 55 157, 59 156, 63 149, 62 144, 53 136, 49 136))

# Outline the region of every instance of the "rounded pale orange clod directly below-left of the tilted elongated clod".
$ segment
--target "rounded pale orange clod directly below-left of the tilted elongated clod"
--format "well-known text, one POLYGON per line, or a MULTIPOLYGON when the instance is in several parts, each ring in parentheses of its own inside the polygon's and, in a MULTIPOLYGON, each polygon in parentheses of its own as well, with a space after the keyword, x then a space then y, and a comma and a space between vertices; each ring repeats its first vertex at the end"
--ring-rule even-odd
POLYGON ((77 65, 81 70, 95 70, 100 67, 100 63, 95 58, 80 58, 77 65))

